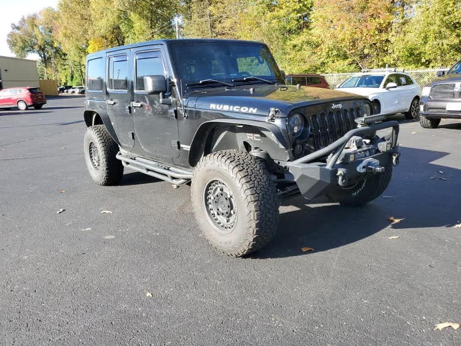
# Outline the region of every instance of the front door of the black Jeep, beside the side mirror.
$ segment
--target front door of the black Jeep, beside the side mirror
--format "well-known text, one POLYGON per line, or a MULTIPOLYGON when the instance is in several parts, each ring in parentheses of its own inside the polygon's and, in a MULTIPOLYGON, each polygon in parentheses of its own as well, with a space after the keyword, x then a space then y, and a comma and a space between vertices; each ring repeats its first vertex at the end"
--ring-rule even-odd
MULTIPOLYGON (((162 51, 156 46, 134 49, 134 93, 132 102, 136 137, 150 157, 171 160, 179 157, 176 113, 172 106, 160 103, 165 95, 148 95, 144 89, 144 76, 163 75, 168 71, 162 51)), ((171 87, 168 87, 169 89, 171 87)), ((168 90, 166 96, 171 91, 168 90)))

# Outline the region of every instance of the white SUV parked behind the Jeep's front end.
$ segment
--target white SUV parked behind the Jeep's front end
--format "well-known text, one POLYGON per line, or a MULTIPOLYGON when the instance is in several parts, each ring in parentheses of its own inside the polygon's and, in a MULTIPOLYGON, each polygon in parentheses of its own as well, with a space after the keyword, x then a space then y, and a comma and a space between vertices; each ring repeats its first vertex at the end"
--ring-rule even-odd
POLYGON ((418 118, 421 88, 412 76, 395 68, 364 70, 337 88, 368 97, 375 114, 404 113, 407 119, 418 118))

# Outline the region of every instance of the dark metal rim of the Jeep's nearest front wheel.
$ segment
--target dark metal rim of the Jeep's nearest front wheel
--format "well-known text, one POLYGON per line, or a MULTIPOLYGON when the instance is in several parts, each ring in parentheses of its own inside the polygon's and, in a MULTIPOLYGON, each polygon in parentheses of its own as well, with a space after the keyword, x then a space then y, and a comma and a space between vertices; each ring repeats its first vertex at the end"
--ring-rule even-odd
POLYGON ((208 219, 220 233, 230 233, 237 224, 237 205, 230 188, 221 180, 213 179, 205 184, 203 206, 208 219))

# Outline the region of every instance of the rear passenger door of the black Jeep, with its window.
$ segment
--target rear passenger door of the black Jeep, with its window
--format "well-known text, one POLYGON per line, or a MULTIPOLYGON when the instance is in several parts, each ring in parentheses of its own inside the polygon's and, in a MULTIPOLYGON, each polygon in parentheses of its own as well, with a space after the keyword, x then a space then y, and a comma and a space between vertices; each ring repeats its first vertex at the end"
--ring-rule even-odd
POLYGON ((133 83, 129 57, 129 49, 107 54, 107 114, 122 147, 135 145, 130 108, 133 83))

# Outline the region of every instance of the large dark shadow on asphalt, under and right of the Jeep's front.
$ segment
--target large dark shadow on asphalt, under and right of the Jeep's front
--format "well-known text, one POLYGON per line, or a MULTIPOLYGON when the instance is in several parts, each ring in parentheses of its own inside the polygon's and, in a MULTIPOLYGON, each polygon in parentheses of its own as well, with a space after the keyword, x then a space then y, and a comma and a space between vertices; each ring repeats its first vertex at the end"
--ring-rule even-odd
POLYGON ((328 203, 325 198, 310 202, 299 196, 285 201, 277 235, 249 258, 310 255, 313 252, 303 252, 301 248, 327 251, 381 231, 387 237, 459 223, 461 170, 434 163, 450 154, 405 147, 401 153, 401 165, 394 168, 385 197, 357 208, 328 203), (392 224, 390 216, 404 220, 392 224))

